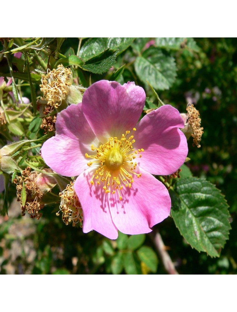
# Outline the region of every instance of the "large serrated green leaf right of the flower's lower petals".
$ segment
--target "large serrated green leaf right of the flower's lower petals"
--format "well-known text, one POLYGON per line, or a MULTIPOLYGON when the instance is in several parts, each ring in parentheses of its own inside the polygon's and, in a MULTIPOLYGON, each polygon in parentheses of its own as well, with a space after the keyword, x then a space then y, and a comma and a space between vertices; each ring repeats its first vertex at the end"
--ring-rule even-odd
POLYGON ((198 251, 220 256, 230 230, 228 205, 220 190, 206 180, 181 178, 171 199, 172 217, 186 241, 198 251))

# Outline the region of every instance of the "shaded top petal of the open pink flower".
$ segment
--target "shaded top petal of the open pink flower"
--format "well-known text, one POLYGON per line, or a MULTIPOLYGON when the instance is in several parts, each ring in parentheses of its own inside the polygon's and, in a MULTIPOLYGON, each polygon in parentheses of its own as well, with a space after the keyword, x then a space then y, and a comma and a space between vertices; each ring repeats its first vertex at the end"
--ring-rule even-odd
POLYGON ((82 108, 95 135, 102 143, 120 138, 138 122, 145 104, 145 91, 134 82, 120 85, 101 80, 91 85, 82 98, 82 108))

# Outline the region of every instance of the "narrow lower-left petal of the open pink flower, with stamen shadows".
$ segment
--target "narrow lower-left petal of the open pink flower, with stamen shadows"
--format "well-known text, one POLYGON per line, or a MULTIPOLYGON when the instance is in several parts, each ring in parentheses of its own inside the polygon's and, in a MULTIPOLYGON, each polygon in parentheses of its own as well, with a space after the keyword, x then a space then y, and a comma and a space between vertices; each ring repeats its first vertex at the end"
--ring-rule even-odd
POLYGON ((110 239, 116 239, 118 230, 111 218, 107 194, 101 186, 90 184, 89 171, 91 169, 82 173, 74 183, 83 210, 83 232, 95 230, 110 239))

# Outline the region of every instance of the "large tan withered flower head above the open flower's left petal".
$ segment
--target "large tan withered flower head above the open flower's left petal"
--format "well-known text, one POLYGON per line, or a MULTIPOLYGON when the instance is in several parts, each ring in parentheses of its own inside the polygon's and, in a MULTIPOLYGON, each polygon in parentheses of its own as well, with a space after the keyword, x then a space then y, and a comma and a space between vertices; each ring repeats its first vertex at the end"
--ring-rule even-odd
POLYGON ((41 82, 40 87, 44 95, 42 99, 45 99, 48 105, 57 108, 69 93, 69 86, 72 84, 72 71, 60 64, 57 69, 52 71, 48 69, 47 74, 42 75, 41 82))

